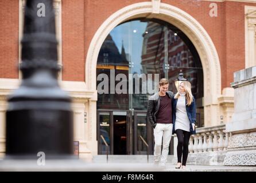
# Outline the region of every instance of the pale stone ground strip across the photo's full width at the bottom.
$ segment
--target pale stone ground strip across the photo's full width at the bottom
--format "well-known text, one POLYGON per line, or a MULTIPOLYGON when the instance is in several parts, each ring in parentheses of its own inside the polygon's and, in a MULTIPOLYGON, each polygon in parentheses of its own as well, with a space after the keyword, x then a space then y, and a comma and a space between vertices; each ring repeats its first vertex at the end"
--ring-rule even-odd
POLYGON ((175 169, 153 163, 88 163, 80 160, 46 160, 38 166, 36 160, 0 160, 1 171, 82 171, 82 172, 256 172, 256 166, 187 165, 187 169, 175 169))

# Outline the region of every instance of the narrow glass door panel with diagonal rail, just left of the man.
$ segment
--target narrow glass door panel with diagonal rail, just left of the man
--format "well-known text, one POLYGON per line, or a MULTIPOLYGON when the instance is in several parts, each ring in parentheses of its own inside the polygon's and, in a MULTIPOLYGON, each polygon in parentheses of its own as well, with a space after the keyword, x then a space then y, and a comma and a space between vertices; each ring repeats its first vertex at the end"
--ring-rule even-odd
POLYGON ((139 154, 147 154, 147 146, 142 142, 139 136, 146 141, 148 144, 148 136, 147 136, 147 118, 146 114, 138 114, 137 115, 137 150, 139 154))

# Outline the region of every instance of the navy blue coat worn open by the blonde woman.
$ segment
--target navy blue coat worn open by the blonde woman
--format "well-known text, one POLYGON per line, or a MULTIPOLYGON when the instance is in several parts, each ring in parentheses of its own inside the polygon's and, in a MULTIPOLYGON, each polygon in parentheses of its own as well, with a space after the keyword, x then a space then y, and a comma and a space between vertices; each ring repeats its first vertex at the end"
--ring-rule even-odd
MULTIPOLYGON (((173 95, 173 113, 172 113, 172 121, 173 121, 173 128, 172 128, 172 134, 175 133, 175 121, 176 121, 176 106, 177 106, 177 101, 178 99, 174 98, 174 95, 173 95)), ((186 99, 186 104, 187 104, 187 99, 186 99)), ((191 105, 186 105, 186 110, 187 110, 187 114, 188 114, 188 118, 189 118, 189 130, 190 130, 190 133, 191 134, 196 134, 196 128, 195 130, 193 130, 193 127, 192 127, 192 123, 195 124, 196 123, 196 100, 195 98, 193 97, 193 102, 191 103, 191 105)))

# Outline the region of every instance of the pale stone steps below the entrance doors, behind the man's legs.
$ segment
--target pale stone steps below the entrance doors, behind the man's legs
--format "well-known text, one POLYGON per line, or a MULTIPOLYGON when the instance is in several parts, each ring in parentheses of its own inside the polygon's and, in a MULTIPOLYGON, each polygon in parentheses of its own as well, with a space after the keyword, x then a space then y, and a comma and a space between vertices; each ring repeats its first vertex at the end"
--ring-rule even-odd
MULTIPOLYGON (((174 156, 169 155, 167 161, 169 163, 174 163, 174 156)), ((97 155, 92 157, 92 162, 107 162, 106 155, 97 155)), ((127 162, 127 163, 153 163, 154 156, 149 155, 149 161, 147 155, 108 155, 108 162, 127 162)))

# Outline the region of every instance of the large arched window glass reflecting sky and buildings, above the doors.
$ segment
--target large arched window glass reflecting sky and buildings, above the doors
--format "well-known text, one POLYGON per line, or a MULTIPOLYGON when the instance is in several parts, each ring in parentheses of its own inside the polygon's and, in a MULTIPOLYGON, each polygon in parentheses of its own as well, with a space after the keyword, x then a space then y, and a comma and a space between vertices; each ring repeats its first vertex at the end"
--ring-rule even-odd
MULTIPOLYGON (((148 97, 152 93, 148 93, 148 90, 142 93, 142 88, 147 85, 142 82, 135 85, 134 75, 138 74, 142 79, 144 74, 148 79, 148 74, 159 74, 159 78, 169 79, 169 90, 176 93, 174 80, 181 69, 184 77, 192 84, 192 94, 197 100, 197 112, 200 113, 199 120, 203 126, 203 68, 199 54, 187 35, 170 23, 158 19, 123 22, 108 34, 99 51, 97 76, 108 76, 107 86, 105 85, 108 93, 98 94, 98 108, 146 110, 148 97), (114 70, 114 78, 110 77, 111 70, 114 70), (126 93, 115 92, 115 87, 121 82, 115 81, 118 74, 126 77, 121 79, 126 83, 126 93), (129 74, 132 74, 130 81, 129 74), (133 93, 130 94, 129 82, 133 86, 133 93), (139 88, 139 94, 135 94, 135 87, 139 88)), ((155 81, 154 75, 152 80, 155 81)), ((101 82, 102 80, 97 81, 97 86, 101 82)))

